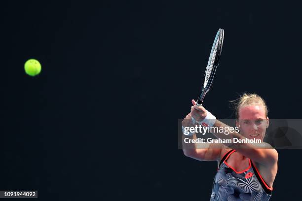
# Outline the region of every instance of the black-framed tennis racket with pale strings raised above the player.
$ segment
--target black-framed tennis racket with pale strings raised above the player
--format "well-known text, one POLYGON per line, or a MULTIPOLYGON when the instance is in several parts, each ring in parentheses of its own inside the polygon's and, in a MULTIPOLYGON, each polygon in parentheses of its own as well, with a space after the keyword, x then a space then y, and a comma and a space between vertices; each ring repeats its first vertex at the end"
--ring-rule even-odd
POLYGON ((196 101, 196 105, 202 105, 206 93, 210 90, 212 86, 214 75, 219 65, 221 50, 224 42, 224 34, 225 31, 223 29, 219 29, 215 36, 215 40, 210 53, 210 58, 208 61, 208 66, 206 67, 206 71, 204 73, 203 86, 196 101))

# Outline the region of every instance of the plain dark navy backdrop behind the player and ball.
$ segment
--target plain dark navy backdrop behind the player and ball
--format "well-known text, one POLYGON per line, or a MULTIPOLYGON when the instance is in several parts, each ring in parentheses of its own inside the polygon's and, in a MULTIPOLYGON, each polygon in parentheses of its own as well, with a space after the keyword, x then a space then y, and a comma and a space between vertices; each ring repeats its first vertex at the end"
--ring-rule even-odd
MULTIPOLYGON (((9 1, 1 6, 1 190, 39 200, 209 200, 216 162, 177 149, 178 119, 225 29, 204 106, 233 118, 243 92, 301 119, 295 2, 9 1), (38 59, 41 73, 24 72, 38 59)), ((301 150, 278 150, 272 201, 300 195, 301 150)))

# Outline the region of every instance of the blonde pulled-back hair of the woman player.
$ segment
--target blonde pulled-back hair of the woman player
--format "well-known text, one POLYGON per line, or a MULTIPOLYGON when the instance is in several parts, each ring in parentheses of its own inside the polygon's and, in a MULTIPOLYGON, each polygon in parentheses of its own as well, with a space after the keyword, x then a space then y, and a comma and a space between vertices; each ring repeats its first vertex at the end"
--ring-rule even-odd
POLYGON ((264 106, 265 109, 265 117, 267 117, 267 106, 263 98, 261 98, 257 94, 247 94, 244 93, 242 96, 240 96, 239 99, 237 100, 231 100, 231 103, 234 105, 234 109, 236 111, 236 118, 239 119, 239 109, 240 107, 245 107, 245 106, 253 106, 253 105, 262 105, 264 106))

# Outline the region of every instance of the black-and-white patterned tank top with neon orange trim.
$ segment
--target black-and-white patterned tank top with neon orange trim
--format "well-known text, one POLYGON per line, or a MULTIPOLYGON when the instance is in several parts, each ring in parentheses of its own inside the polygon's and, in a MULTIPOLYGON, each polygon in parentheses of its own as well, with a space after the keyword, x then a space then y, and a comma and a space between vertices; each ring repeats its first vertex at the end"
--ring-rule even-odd
POLYGON ((257 167, 249 159, 249 167, 240 172, 227 164, 228 151, 218 167, 214 178, 210 201, 268 201, 272 188, 268 187, 257 167))

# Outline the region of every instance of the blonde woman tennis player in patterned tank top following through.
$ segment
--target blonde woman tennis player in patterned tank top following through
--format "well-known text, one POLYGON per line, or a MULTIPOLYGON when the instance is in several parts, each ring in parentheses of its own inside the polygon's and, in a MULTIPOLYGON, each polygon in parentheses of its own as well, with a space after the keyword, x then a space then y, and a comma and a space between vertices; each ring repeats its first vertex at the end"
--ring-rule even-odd
MULTIPOLYGON (((182 122, 183 127, 198 123, 210 127, 228 127, 203 106, 196 105, 194 100, 192 104, 191 112, 182 122)), ((262 143, 209 143, 207 148, 202 149, 194 145, 194 148, 184 148, 184 154, 196 160, 218 162, 211 201, 268 201, 277 173, 278 153, 263 142, 269 124, 266 104, 256 94, 244 94, 237 100, 235 109, 239 133, 213 134, 220 139, 261 139, 262 143)), ((196 139, 195 134, 186 137, 196 139)))

